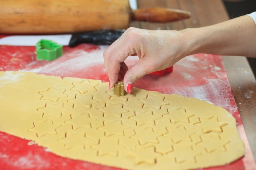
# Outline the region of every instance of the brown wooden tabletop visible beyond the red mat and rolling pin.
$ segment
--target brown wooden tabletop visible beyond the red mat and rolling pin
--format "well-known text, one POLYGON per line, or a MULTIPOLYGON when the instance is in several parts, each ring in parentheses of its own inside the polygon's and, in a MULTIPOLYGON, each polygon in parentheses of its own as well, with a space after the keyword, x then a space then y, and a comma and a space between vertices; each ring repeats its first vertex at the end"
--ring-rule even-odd
MULTIPOLYGON (((168 7, 191 12, 190 19, 167 24, 131 23, 143 29, 181 30, 229 20, 221 0, 137 0, 137 5, 138 8, 168 7)), ((222 60, 256 160, 256 80, 246 57, 222 56, 222 60)))

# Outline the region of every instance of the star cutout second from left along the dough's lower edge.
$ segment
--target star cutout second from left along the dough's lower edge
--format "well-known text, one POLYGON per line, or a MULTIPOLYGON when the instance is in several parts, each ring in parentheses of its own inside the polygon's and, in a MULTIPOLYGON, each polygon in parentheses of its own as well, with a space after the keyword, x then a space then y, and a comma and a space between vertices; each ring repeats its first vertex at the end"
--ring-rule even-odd
POLYGON ((92 139, 85 137, 85 132, 67 132, 65 138, 59 139, 58 141, 65 144, 65 149, 74 147, 84 149, 86 146, 89 147, 91 144, 94 144, 92 139))

